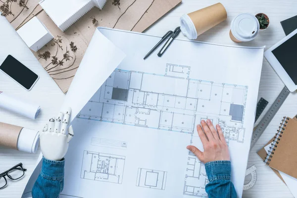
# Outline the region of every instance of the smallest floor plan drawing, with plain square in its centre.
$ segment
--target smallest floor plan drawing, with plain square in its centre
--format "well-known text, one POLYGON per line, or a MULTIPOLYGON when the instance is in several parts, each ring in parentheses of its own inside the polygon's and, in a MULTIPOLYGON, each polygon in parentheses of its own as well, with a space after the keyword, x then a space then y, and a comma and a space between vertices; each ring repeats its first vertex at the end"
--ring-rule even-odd
POLYGON ((136 186, 165 190, 166 179, 166 171, 138 168, 136 186))

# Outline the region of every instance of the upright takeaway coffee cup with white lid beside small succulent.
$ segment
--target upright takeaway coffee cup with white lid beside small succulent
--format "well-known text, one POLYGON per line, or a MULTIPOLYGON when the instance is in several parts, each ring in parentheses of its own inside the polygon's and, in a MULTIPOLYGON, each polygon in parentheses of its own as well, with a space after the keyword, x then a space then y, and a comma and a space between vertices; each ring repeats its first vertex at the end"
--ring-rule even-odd
POLYGON ((231 22, 230 38, 236 43, 253 40, 260 30, 257 18, 248 13, 239 14, 231 22))

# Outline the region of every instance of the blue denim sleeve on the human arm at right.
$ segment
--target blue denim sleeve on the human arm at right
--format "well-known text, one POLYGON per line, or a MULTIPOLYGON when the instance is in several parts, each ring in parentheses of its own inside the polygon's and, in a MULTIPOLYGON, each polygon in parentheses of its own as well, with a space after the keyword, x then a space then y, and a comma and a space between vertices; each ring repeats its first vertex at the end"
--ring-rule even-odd
POLYGON ((210 161, 205 163, 209 183, 205 186, 208 198, 236 198, 231 182, 231 161, 210 161))

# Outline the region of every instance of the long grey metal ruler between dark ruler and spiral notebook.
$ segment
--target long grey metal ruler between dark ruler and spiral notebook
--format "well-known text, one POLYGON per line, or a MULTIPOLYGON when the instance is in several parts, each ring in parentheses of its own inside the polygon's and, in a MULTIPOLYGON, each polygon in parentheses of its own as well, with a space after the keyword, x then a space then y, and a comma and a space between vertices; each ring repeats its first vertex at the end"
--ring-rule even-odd
POLYGON ((272 118, 275 116, 277 111, 280 109, 282 104, 284 103, 285 99, 289 96, 290 91, 287 87, 284 87, 284 89, 281 91, 280 95, 277 97, 277 99, 273 102, 267 113, 264 115, 262 120, 259 122, 258 126, 254 130, 251 138, 251 144, 250 148, 252 148, 260 136, 263 134, 264 130, 267 128, 268 124, 272 120, 272 118))

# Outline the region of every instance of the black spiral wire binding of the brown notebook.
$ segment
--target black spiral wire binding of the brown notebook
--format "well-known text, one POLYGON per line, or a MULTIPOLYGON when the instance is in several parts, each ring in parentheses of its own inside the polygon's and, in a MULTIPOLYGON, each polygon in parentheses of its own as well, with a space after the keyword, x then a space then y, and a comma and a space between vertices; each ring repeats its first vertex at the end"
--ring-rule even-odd
POLYGON ((265 160, 263 160, 265 164, 269 165, 269 162, 271 161, 271 158, 273 157, 273 154, 274 154, 275 150, 277 149, 277 145, 279 144, 279 141, 282 139, 282 134, 286 130, 289 120, 290 120, 290 118, 288 118, 288 117, 284 117, 282 119, 279 129, 277 130, 277 133, 275 134, 274 141, 271 143, 271 147, 269 147, 269 150, 268 150, 265 160))

